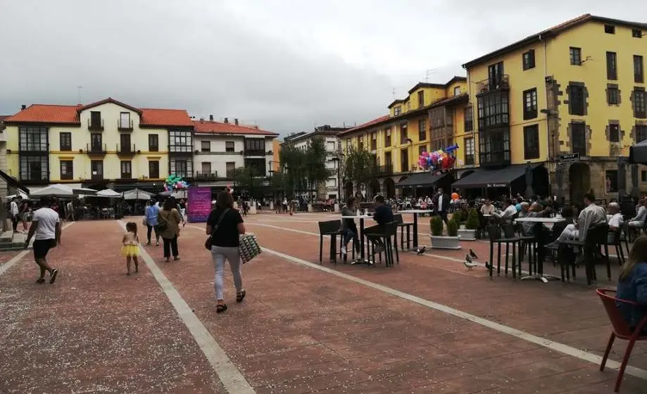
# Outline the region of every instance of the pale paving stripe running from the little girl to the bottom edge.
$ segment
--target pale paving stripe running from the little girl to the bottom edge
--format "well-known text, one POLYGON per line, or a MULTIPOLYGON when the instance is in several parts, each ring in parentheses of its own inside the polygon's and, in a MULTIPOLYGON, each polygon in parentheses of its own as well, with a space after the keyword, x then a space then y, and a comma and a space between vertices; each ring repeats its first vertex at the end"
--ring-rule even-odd
MULTIPOLYGON (((123 229, 126 228, 122 220, 118 223, 123 229)), ((199 229, 199 227, 194 228, 199 229)), ((194 337, 200 350, 204 353, 213 371, 218 375, 222 385, 227 389, 227 392, 230 394, 256 394, 256 391, 251 387, 243 374, 241 374, 241 371, 239 371, 227 356, 225 350, 222 350, 220 344, 215 341, 215 338, 211 336, 211 333, 209 333, 204 324, 202 324, 193 310, 191 310, 189 304, 182 298, 177 288, 173 286, 171 281, 168 280, 162 270, 156 265, 151 255, 149 255, 145 248, 140 248, 140 253, 144 262, 146 262, 146 267, 149 268, 153 277, 162 288, 162 291, 164 291, 164 294, 175 308, 175 311, 180 315, 182 322, 189 329, 191 336, 194 337)))

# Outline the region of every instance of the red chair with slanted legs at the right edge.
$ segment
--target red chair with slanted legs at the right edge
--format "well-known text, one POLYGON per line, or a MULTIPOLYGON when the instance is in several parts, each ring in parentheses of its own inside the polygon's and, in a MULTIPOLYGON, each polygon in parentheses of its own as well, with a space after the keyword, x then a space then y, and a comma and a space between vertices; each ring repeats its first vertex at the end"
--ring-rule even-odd
POLYGON ((641 322, 638 324, 638 326, 634 329, 634 332, 632 333, 632 330, 629 328, 629 324, 627 324, 627 321, 624 319, 624 317, 622 317, 622 315, 618 311, 616 302, 633 305, 634 307, 637 307, 638 304, 632 301, 615 298, 613 296, 615 295, 615 290, 612 290, 610 288, 598 288, 596 290, 596 293, 598 293, 598 295, 600 296, 600 299, 602 300, 602 304, 604 305, 604 309, 607 311, 609 320, 613 325, 613 332, 609 337, 607 350, 605 350, 604 357, 602 357, 602 363, 600 364, 601 371, 604 371, 604 366, 607 363, 607 358, 609 357, 609 352, 611 351, 611 347, 613 346, 613 341, 615 340, 615 338, 618 337, 620 339, 624 339, 625 341, 629 341, 629 344, 627 345, 627 350, 624 351, 624 357, 622 358, 622 364, 620 364, 620 370, 618 371, 617 380, 615 381, 614 392, 617 393, 618 390, 620 390, 620 383, 622 383, 622 376, 624 375, 624 369, 627 367, 627 362, 629 362, 629 356, 632 354, 634 343, 636 343, 636 341, 647 341, 647 336, 639 335, 643 327, 647 326, 647 316, 641 320, 641 322))

